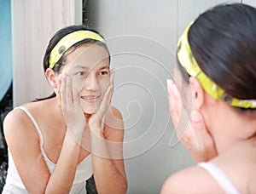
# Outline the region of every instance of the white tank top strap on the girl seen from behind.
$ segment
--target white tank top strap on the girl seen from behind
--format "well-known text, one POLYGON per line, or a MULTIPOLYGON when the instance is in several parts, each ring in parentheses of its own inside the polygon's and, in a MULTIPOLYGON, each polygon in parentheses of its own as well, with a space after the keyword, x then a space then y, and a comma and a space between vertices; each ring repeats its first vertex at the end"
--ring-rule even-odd
POLYGON ((231 183, 229 178, 224 174, 224 172, 218 168, 218 166, 214 163, 198 163, 197 164, 201 168, 205 168, 209 174, 212 175, 214 180, 218 182, 218 185, 221 186, 223 191, 227 194, 240 194, 240 191, 236 189, 236 186, 231 183))

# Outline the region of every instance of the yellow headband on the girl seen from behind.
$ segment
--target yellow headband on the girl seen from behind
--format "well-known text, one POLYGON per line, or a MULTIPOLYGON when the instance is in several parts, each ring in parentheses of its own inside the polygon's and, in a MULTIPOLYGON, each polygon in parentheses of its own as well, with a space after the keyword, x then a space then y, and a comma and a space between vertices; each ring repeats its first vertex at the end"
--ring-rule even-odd
POLYGON ((192 23, 189 24, 177 43, 177 60, 181 66, 183 66, 191 77, 197 78, 201 83, 202 88, 204 88, 207 94, 210 94, 212 98, 216 100, 224 100, 229 103, 230 106, 256 108, 256 100, 239 100, 231 97, 224 92, 223 88, 220 88, 210 77, 207 77, 207 75, 201 71, 189 46, 188 35, 190 26, 192 26, 192 23))

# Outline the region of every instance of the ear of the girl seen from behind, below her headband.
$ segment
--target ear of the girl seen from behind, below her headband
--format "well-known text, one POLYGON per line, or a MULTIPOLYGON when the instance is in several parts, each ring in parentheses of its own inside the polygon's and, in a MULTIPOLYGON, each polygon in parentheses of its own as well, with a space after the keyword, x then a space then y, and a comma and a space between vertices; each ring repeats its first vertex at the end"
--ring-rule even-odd
POLYGON ((205 103, 205 90, 195 77, 189 77, 189 85, 192 92, 192 108, 195 110, 201 109, 205 103))

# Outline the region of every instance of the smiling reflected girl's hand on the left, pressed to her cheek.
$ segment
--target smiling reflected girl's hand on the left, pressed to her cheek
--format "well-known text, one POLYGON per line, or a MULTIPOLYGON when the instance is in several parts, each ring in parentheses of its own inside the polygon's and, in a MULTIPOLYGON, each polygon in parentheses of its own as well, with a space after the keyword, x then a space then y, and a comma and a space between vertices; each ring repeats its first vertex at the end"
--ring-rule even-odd
POLYGON ((70 76, 59 76, 57 91, 67 129, 76 140, 80 140, 85 127, 84 111, 79 103, 79 93, 72 87, 70 76))

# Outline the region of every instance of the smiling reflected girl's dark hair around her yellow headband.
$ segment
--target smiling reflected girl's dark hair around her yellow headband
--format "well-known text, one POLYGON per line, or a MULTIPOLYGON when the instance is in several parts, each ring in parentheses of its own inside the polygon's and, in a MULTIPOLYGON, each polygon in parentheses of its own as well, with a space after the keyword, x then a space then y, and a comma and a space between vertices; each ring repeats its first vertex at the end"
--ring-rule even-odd
MULTIPOLYGON (((50 55, 52 49, 55 48, 55 45, 57 43, 59 43, 61 38, 67 36, 67 34, 70 34, 73 31, 81 31, 81 30, 94 31, 102 37, 102 35, 98 31, 87 28, 84 25, 67 26, 67 27, 62 28, 59 31, 56 31, 54 37, 52 37, 50 39, 49 44, 48 44, 48 46, 46 48, 46 51, 45 51, 45 54, 44 54, 44 64, 43 64, 44 65, 44 71, 46 71, 49 68, 49 55, 50 55)), ((104 38, 104 37, 102 37, 102 38, 104 38)), ((71 54, 75 50, 75 48, 78 48, 79 46, 81 46, 82 44, 85 44, 85 43, 95 43, 95 44, 105 48, 108 51, 108 58, 109 58, 109 62, 110 62, 109 50, 108 50, 108 47, 105 43, 102 43, 102 42, 96 41, 96 40, 92 40, 92 39, 84 39, 83 41, 80 41, 79 43, 74 44, 71 48, 67 49, 67 51, 61 56, 61 59, 55 64, 55 66, 53 67, 53 70, 55 72, 60 72, 61 68, 66 65, 67 55, 71 54)), ((53 94, 49 95, 49 97, 42 98, 42 99, 37 99, 37 100, 47 100, 47 99, 53 98, 55 96, 56 96, 56 94, 53 93, 53 94)), ((35 101, 37 101, 37 100, 35 100, 35 101)))

